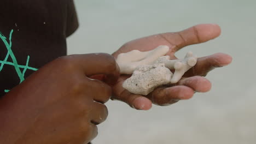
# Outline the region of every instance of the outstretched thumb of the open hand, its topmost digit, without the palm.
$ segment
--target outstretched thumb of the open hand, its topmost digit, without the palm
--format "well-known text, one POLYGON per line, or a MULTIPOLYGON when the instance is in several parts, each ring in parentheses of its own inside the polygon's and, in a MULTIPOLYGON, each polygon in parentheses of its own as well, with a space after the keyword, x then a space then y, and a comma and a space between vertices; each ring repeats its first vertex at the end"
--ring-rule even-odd
POLYGON ((175 45, 174 51, 184 46, 204 43, 217 38, 221 33, 220 27, 216 24, 201 24, 185 29, 181 32, 160 34, 171 45, 175 45))

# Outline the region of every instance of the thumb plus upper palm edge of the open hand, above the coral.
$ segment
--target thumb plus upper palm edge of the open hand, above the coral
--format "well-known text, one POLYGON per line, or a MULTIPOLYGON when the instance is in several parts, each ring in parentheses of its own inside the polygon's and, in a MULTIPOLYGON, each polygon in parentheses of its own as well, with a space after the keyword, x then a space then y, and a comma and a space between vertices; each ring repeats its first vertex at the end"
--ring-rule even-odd
POLYGON ((136 40, 129 41, 122 46, 121 50, 113 53, 117 57, 119 53, 129 52, 132 50, 149 51, 159 45, 167 45, 170 51, 167 55, 173 56, 173 53, 184 46, 199 44, 208 40, 217 38, 220 35, 220 27, 216 24, 201 24, 185 29, 181 32, 169 32, 150 35, 136 40))

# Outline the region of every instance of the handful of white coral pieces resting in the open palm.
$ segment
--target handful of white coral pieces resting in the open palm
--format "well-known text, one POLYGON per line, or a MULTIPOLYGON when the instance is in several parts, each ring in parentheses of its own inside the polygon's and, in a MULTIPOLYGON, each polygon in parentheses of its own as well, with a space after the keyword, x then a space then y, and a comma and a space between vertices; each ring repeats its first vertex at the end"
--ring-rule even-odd
POLYGON ((158 86, 177 83, 197 62, 192 52, 188 52, 184 59, 170 59, 170 56, 164 56, 168 50, 168 46, 159 46, 148 52, 121 53, 117 59, 121 74, 133 73, 123 87, 131 93, 147 95, 158 86), (175 70, 174 74, 170 69, 175 70))

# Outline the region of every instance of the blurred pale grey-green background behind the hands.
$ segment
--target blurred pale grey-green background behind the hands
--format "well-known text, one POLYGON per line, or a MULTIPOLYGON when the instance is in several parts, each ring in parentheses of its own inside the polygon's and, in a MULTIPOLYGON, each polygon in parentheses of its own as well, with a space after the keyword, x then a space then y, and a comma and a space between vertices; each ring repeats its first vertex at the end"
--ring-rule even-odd
POLYGON ((187 46, 197 56, 228 53, 232 64, 211 71, 208 93, 149 111, 108 101, 109 116, 93 143, 255 143, 256 1, 75 0, 80 27, 68 53, 113 53, 132 39, 217 23, 219 38, 187 46))

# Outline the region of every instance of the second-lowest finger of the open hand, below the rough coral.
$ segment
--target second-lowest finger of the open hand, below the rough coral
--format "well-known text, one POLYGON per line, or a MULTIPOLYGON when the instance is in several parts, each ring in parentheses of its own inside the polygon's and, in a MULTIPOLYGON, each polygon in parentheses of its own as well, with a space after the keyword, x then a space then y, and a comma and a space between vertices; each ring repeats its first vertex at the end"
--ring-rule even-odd
POLYGON ((190 99, 194 90, 187 86, 173 86, 156 88, 147 97, 156 105, 170 105, 178 100, 190 99))

